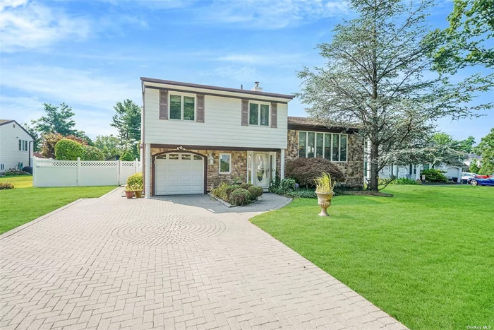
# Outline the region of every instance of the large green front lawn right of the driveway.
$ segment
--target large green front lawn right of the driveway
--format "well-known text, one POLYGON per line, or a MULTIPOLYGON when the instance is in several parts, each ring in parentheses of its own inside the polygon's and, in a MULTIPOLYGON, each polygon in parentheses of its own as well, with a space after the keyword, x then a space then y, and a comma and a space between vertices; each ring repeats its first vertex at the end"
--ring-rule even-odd
POLYGON ((252 219, 411 329, 494 326, 494 188, 388 186, 252 219))

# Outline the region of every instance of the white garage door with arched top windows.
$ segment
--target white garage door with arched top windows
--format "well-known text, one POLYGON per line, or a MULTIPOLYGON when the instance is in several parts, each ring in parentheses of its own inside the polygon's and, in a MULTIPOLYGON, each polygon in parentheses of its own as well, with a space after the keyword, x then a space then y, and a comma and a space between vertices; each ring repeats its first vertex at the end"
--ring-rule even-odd
POLYGON ((204 194, 204 158, 165 153, 155 159, 155 195, 204 194))

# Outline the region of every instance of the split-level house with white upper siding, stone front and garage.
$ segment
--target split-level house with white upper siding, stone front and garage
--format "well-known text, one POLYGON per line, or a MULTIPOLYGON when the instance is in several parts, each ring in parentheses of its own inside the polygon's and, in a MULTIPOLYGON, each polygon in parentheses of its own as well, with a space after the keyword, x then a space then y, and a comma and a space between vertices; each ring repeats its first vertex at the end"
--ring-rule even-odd
MULTIPOLYGON (((322 147, 324 156, 327 148, 320 145, 320 136, 324 143, 332 134, 342 133, 291 122, 288 102, 294 96, 265 93, 258 83, 243 90, 153 78, 141 81, 146 197, 205 194, 235 179, 267 189, 276 170, 284 177, 285 160, 297 157, 299 148, 306 148, 304 156, 312 157, 307 150, 314 148, 320 155, 322 147), (303 133, 306 147, 299 141, 301 132, 308 132, 303 133)), ((343 143, 328 149, 326 157, 332 158, 334 150, 342 170, 356 175, 354 183, 362 183, 363 146, 353 146, 352 134, 334 139, 343 143)))

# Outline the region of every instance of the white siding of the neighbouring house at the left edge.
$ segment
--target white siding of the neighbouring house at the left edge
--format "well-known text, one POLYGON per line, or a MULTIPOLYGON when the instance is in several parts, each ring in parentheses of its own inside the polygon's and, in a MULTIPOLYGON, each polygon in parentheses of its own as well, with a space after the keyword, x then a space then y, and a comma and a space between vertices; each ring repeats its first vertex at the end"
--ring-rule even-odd
MULTIPOLYGON (((32 157, 28 151, 19 151, 19 140, 32 141, 23 129, 16 124, 8 123, 0 126, 0 164, 4 164, 4 169, 16 167, 18 163, 23 163, 23 166, 29 166, 29 159, 32 157)), ((32 149, 32 143, 30 143, 32 149)))

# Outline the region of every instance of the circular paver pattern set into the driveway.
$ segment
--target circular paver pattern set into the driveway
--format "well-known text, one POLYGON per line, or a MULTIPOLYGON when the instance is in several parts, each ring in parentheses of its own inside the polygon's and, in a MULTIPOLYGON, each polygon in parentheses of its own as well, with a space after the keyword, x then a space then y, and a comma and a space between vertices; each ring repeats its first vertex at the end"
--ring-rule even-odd
POLYGON ((172 245, 204 240, 223 232, 224 223, 203 216, 164 216, 127 223, 112 232, 133 245, 172 245))

